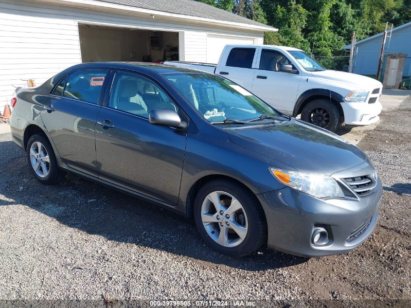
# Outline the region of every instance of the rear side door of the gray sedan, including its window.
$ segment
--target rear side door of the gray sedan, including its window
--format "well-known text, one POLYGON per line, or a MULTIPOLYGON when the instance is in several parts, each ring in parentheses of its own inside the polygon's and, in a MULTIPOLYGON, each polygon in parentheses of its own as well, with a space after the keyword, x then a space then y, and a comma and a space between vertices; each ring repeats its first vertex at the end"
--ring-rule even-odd
POLYGON ((95 122, 107 74, 104 69, 71 72, 43 102, 45 110, 41 112, 41 119, 62 161, 95 177, 95 122), (96 77, 97 82, 93 81, 96 77))

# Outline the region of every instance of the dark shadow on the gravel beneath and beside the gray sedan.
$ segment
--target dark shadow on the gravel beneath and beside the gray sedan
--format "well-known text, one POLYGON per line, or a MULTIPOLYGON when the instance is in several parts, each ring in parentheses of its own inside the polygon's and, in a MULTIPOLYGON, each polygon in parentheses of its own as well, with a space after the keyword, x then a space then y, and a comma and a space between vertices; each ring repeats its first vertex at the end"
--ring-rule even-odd
MULTIPOLYGON (((0 142, 0 148, 5 148, 4 143, 0 142)), ((4 159, 7 163, 0 169, 0 193, 16 200, 12 203, 28 206, 68 227, 112 241, 185 255, 204 261, 205 267, 222 264, 246 271, 264 271, 307 260, 265 248, 244 258, 218 254, 204 244, 193 221, 157 205, 71 174, 57 185, 40 184, 31 175, 23 155, 20 151, 17 157, 4 159)), ((3 205, 13 206, 3 201, 3 205)))

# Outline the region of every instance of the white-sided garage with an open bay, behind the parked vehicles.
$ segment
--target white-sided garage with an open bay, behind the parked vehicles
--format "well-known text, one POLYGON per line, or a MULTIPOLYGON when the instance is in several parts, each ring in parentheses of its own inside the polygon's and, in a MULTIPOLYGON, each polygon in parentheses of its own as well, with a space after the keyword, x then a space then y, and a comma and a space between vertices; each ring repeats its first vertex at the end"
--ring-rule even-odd
POLYGON ((18 87, 97 61, 217 62, 277 29, 191 0, 1 0, 0 112, 18 87))

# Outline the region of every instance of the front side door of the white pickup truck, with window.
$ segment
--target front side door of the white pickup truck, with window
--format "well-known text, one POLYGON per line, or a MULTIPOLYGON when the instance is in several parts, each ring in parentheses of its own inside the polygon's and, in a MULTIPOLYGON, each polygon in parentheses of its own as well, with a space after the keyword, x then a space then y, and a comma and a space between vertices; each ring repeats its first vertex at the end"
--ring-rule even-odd
POLYGON ((283 53, 262 49, 254 70, 252 92, 275 109, 291 114, 297 99, 301 73, 283 53), (291 71, 283 71, 286 67, 291 71))

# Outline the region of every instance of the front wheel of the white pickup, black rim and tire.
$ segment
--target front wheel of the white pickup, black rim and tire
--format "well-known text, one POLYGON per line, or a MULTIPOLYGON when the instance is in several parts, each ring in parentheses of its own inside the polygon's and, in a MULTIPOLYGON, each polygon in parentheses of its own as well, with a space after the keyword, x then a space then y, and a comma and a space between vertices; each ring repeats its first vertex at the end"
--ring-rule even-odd
POLYGON ((305 105, 301 111, 301 120, 334 132, 340 125, 341 113, 334 103, 315 99, 305 105))

